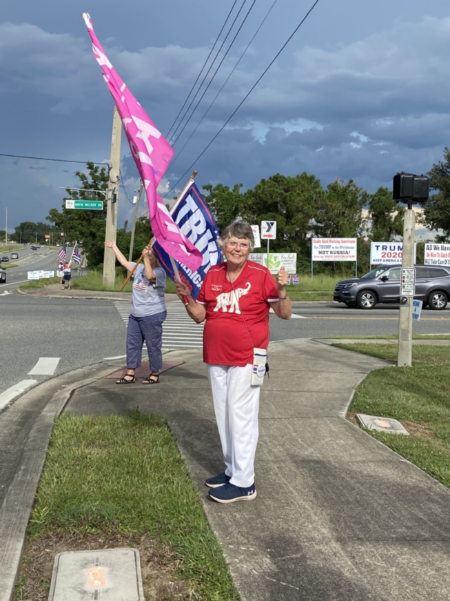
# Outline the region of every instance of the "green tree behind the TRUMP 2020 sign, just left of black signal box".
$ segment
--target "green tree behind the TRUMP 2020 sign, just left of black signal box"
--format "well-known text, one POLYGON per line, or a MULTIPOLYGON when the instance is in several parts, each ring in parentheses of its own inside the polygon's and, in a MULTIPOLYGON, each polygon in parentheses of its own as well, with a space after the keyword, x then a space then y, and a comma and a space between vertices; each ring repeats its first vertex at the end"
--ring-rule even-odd
POLYGON ((396 203, 388 188, 369 197, 369 235, 374 242, 391 242, 403 234, 405 208, 396 203))

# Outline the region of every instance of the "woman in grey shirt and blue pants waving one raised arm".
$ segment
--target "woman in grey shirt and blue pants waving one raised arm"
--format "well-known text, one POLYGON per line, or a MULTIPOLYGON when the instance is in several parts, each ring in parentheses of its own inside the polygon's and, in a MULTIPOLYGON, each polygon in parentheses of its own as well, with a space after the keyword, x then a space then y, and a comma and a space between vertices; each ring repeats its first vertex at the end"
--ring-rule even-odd
MULTIPOLYGON (((125 269, 133 272, 136 263, 128 261, 113 240, 105 240, 116 259, 125 269)), ((163 367, 163 322, 167 317, 164 291, 166 275, 150 244, 142 251, 143 265, 133 272, 132 310, 127 326, 127 373, 116 384, 134 384, 136 368, 141 367, 142 348, 145 341, 150 363, 150 375, 143 384, 158 384, 163 367)))

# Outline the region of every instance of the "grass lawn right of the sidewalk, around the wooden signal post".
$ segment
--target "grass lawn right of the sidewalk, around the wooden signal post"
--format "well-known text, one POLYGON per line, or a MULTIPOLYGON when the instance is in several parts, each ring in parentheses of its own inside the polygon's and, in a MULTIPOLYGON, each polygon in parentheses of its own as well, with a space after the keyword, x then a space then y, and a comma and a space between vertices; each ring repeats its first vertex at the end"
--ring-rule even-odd
MULTIPOLYGON (((390 344, 336 344, 396 362, 390 344)), ((398 420, 411 435, 367 431, 450 487, 450 346, 413 346, 411 367, 369 373, 349 411, 398 420)))

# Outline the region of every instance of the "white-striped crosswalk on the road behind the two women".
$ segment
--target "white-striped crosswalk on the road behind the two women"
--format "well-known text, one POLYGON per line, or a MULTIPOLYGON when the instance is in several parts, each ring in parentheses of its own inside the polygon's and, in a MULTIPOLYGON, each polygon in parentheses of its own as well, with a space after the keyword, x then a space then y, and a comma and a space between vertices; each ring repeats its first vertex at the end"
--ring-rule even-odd
MULTIPOLYGON (((114 305, 125 324, 127 324, 130 315, 130 303, 114 301, 114 305)), ((167 319, 163 325, 163 349, 202 348, 203 324, 193 322, 181 303, 169 302, 166 307, 167 319)))

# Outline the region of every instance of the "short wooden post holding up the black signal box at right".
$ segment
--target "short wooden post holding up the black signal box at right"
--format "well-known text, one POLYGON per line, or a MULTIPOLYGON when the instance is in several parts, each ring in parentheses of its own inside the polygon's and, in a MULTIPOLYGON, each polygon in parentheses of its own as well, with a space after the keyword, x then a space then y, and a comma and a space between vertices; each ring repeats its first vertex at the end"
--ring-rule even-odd
MULTIPOLYGON (((411 205, 405 209, 403 222, 402 268, 414 266, 414 234, 416 231, 416 213, 411 205)), ((401 293, 400 283, 400 293, 401 293)), ((398 367, 411 367, 413 348, 413 296, 400 296, 398 315, 398 367)))

